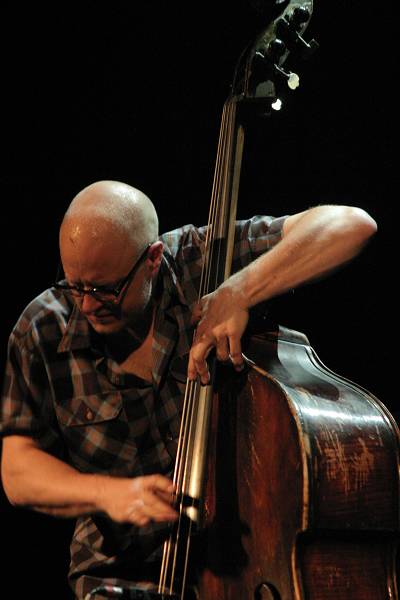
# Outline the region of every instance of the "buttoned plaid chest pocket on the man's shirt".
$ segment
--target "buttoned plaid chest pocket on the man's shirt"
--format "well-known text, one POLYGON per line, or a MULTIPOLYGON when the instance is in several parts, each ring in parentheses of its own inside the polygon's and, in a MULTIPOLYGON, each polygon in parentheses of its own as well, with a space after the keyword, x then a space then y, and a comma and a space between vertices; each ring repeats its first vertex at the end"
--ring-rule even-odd
POLYGON ((74 396, 68 403, 59 404, 56 411, 62 427, 107 424, 119 417, 122 396, 118 391, 74 396))

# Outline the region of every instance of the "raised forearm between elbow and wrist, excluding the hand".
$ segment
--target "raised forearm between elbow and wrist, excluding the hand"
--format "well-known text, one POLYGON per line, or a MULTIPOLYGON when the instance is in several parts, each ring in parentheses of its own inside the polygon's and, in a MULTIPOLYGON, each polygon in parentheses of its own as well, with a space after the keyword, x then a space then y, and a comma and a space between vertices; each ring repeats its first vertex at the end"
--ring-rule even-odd
POLYGON ((373 219, 360 209, 310 209, 297 216, 279 244, 233 275, 228 285, 241 289, 244 306, 254 306, 348 262, 375 230, 373 219))

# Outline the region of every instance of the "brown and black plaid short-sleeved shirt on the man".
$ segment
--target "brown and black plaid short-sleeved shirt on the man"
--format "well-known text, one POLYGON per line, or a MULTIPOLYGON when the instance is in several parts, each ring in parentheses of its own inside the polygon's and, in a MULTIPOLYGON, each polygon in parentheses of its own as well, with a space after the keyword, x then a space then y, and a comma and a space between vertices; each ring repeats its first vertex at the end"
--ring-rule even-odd
MULTIPOLYGON (((272 248, 283 221, 238 221, 232 271, 272 248)), ((118 371, 101 336, 60 291, 50 288, 33 300, 10 336, 0 434, 32 436, 82 473, 171 475, 205 234, 205 227, 187 225, 160 238, 165 248, 151 384, 118 371)), ((123 585, 150 577, 163 537, 164 525, 78 518, 69 574, 77 597, 102 581, 123 585)))

